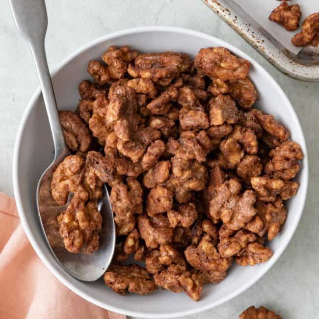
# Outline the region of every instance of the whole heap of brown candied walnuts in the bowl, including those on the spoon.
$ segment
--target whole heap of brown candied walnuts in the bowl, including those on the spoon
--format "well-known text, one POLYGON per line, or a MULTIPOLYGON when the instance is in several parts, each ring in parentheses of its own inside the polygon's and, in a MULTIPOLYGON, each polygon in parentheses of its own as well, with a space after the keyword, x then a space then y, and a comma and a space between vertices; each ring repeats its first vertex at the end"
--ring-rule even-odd
POLYGON ((76 113, 60 111, 74 155, 53 174, 65 248, 99 248, 97 201, 110 186, 116 252, 104 275, 115 292, 158 286, 198 300, 235 261, 266 262, 298 184, 300 146, 252 108, 250 63, 225 48, 141 54, 110 47, 91 61, 76 113), (104 150, 101 151, 101 147, 104 150), (129 256, 145 268, 127 265, 129 256))

